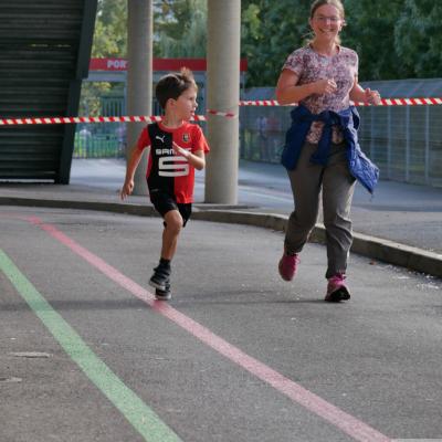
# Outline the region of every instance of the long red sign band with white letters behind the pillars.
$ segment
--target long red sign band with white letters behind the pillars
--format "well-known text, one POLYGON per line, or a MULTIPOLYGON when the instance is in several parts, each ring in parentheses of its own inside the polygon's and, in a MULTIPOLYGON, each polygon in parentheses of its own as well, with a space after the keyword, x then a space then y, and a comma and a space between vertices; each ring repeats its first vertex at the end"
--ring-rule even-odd
MULTIPOLYGON (((127 71, 125 59, 91 59, 90 71, 127 71)), ((189 67, 191 71, 207 71, 206 59, 154 59, 154 71, 179 71, 189 67)), ((246 59, 241 59, 240 71, 248 70, 246 59)))

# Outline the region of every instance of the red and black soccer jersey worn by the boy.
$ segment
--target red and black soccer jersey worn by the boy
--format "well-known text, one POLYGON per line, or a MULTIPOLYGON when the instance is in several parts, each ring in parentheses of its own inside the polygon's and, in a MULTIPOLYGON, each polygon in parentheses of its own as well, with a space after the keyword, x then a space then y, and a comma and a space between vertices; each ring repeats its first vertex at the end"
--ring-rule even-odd
POLYGON ((147 125, 138 138, 137 149, 150 147, 146 173, 149 192, 159 190, 179 203, 193 202, 194 167, 185 157, 173 155, 172 140, 191 152, 209 151, 201 128, 194 124, 186 122, 176 129, 161 123, 147 125))

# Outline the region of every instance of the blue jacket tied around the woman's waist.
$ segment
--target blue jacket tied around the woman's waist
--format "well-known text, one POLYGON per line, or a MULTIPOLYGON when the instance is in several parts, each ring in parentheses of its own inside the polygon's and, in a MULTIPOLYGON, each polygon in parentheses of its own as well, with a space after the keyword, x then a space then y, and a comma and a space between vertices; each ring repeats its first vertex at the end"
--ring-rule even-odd
POLYGON ((283 166, 293 170, 296 168, 301 150, 305 144, 313 122, 323 122, 323 135, 318 148, 312 155, 311 161, 327 165, 332 144, 332 126, 338 125, 347 143, 347 159, 350 173, 370 192, 378 182, 379 169, 360 149, 358 143, 359 114, 355 106, 340 112, 324 110, 318 115, 312 114, 305 106, 297 106, 291 112, 292 126, 285 135, 285 145, 281 157, 283 166))

